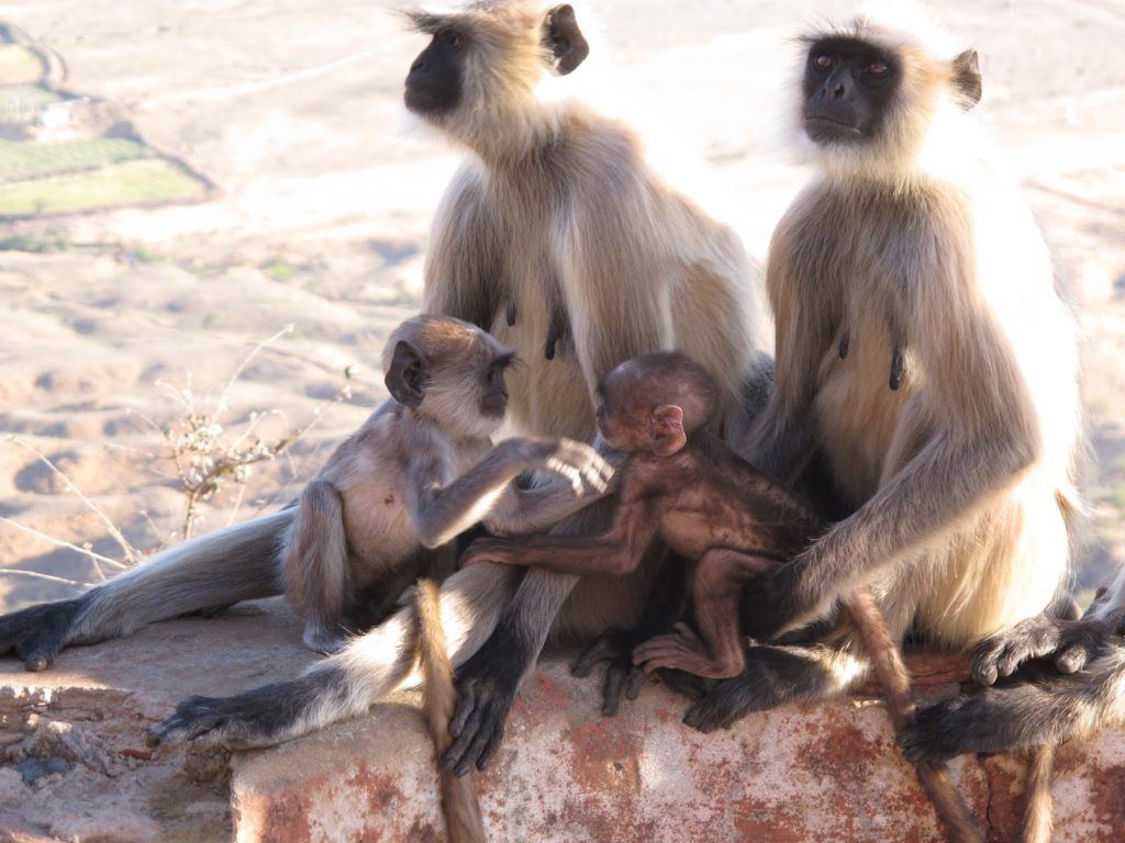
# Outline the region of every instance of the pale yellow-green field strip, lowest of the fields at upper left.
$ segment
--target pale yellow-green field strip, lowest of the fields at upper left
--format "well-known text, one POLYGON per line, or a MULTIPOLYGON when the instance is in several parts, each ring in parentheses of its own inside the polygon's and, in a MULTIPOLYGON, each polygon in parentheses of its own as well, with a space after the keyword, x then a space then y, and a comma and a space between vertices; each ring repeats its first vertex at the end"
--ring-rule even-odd
POLYGON ((127 205, 202 199, 207 185, 169 161, 147 158, 0 188, 0 216, 71 214, 127 205))

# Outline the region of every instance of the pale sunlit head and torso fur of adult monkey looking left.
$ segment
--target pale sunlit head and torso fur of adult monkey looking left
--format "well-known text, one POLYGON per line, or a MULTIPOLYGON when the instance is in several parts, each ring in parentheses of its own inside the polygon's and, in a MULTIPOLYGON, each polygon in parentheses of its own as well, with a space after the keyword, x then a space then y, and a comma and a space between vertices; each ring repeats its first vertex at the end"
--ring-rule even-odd
POLYGON ((524 365, 511 379, 512 418, 522 429, 592 436, 597 380, 675 347, 720 381, 734 414, 763 342, 745 251, 647 166, 628 127, 547 94, 544 83, 570 79, 552 78, 542 46, 550 6, 415 16, 423 31, 465 34, 462 100, 422 119, 471 153, 434 219, 423 310, 476 321, 516 350, 524 365), (566 332, 547 360, 552 314, 566 332))

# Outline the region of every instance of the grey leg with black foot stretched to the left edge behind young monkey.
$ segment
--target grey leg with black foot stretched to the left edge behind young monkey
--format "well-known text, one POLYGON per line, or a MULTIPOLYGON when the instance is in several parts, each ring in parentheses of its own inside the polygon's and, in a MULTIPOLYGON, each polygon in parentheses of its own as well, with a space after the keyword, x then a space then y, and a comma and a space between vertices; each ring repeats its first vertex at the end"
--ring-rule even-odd
POLYGON ((43 670, 70 644, 92 644, 155 620, 280 592, 278 553, 292 510, 208 533, 70 600, 0 617, 0 654, 43 670))

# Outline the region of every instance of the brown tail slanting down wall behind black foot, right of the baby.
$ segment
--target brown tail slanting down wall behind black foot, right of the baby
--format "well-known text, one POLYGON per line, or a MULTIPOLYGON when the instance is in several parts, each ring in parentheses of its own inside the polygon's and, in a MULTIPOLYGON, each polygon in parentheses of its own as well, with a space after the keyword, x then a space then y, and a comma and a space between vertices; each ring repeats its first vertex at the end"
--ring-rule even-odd
MULTIPOLYGON (((867 655, 874 664, 875 673, 886 695, 886 709, 896 733, 912 722, 914 697, 910 695, 910 673, 902 661, 902 654, 891 638, 875 598, 866 589, 853 592, 845 601, 867 655)), ((945 825, 946 834, 954 843, 983 843, 984 835, 976 818, 950 779, 944 762, 916 761, 918 779, 934 805, 938 819, 945 825)))

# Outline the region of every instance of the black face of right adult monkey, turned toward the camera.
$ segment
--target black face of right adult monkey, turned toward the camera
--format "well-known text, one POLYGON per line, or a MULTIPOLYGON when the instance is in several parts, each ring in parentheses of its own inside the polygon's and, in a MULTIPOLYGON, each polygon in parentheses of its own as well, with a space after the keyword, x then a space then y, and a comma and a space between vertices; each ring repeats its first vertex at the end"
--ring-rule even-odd
POLYGON ((804 71, 804 132, 818 144, 879 135, 902 71, 894 55, 854 38, 822 38, 804 71))

